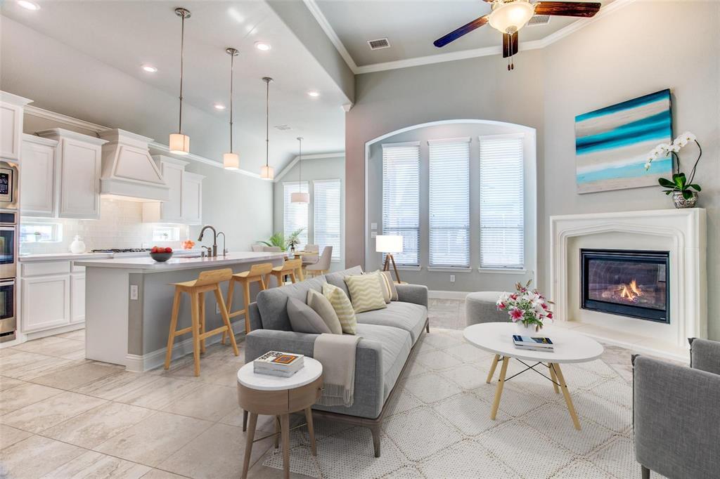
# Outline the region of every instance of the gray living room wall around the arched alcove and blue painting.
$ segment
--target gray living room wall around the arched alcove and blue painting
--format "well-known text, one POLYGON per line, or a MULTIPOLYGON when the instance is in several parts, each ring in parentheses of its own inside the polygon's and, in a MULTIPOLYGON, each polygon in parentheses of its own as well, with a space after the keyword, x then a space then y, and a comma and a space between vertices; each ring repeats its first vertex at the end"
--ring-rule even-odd
POLYGON ((698 174, 699 206, 708 209, 708 329, 720 339, 718 25, 715 2, 634 2, 549 47, 521 52, 512 73, 495 55, 358 76, 346 116, 346 264, 363 263, 368 240, 358 214, 366 142, 424 122, 491 119, 537 130, 539 284, 547 289, 549 216, 672 208, 659 188, 575 193, 575 115, 669 87, 675 132, 695 132, 705 150, 698 174))

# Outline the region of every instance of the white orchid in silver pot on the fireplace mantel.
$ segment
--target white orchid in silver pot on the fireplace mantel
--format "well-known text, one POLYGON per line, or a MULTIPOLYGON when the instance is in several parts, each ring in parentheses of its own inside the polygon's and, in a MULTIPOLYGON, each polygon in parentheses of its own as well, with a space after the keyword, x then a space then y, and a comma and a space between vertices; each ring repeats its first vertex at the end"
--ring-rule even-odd
POLYGON ((665 189, 666 195, 672 195, 672 202, 675 204, 675 208, 693 208, 698 202, 698 191, 701 191, 700 185, 693 183, 695 180, 695 173, 698 168, 700 158, 703 156, 703 149, 696 140, 694 134, 685 132, 679 137, 672 140, 672 143, 660 143, 654 147, 647 157, 645 163, 645 170, 650 169, 650 165, 654 160, 658 158, 667 158, 670 155, 672 158, 672 178, 659 178, 657 180, 660 186, 665 189), (695 142, 698 145, 698 158, 695 160, 693 169, 690 170, 690 178, 688 178, 683 171, 680 170, 680 150, 685 146, 695 142))

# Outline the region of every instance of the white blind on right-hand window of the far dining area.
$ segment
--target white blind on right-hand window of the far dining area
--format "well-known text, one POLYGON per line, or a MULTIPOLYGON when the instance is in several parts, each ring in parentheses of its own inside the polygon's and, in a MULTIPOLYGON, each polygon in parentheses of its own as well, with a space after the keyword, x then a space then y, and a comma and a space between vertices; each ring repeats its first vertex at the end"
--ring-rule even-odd
POLYGON ((320 247, 320 252, 326 246, 332 246, 333 260, 340 260, 340 188, 340 180, 313 182, 315 244, 320 247))

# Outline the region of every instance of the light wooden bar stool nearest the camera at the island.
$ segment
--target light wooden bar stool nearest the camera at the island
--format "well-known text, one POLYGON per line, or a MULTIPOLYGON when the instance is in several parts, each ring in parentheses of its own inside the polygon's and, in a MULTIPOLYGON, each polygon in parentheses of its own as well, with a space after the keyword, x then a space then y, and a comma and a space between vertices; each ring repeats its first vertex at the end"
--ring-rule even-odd
POLYGON ((230 316, 228 316, 228 310, 225 309, 225 301, 222 299, 222 291, 220 291, 220 283, 228 281, 232 277, 233 270, 227 268, 224 270, 203 271, 198 275, 197 280, 185 281, 184 283, 172 283, 171 286, 175 286, 175 298, 173 300, 173 314, 170 319, 170 334, 168 334, 168 351, 165 355, 165 369, 170 368, 175 337, 188 332, 192 332, 192 355, 195 362, 196 376, 200 375, 200 352, 205 352, 205 338, 228 332, 230 334, 230 344, 233 346, 235 356, 240 354, 240 352, 238 352, 238 345, 235 344, 235 335, 230 325, 230 316), (217 301, 217 305, 220 306, 220 315, 222 316, 222 322, 224 324, 212 331, 205 332, 205 293, 208 291, 215 293, 215 301, 217 301), (192 318, 192 324, 190 327, 177 329, 182 293, 188 293, 190 296, 190 316, 192 318))

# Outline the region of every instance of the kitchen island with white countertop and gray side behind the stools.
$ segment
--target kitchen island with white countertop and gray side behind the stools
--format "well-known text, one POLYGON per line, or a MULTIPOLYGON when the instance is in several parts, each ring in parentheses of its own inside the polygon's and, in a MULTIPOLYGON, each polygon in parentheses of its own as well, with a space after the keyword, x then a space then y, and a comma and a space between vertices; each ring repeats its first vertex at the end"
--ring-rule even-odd
MULTIPOLYGON (((84 266, 86 359, 124 365, 130 371, 145 371, 163 363, 170 328, 174 286, 194 280, 204 270, 231 268, 249 270, 257 263, 282 265, 284 252, 230 252, 218 257, 172 257, 157 263, 149 255, 114 259, 80 260, 84 266)), ((221 285, 226 298, 227 285, 221 285)), ((251 298, 257 290, 251 290, 251 298)), ((183 295, 179 327, 190 324, 189 298, 183 295)), ((215 297, 205 299, 207 330, 222 324, 215 297)), ((235 288, 233 309, 243 307, 240 288, 235 288)), ((235 319, 233 329, 245 330, 245 319, 235 319)), ((220 341, 220 336, 208 342, 220 341)), ((173 357, 192 353, 190 334, 176 338, 173 357)))

